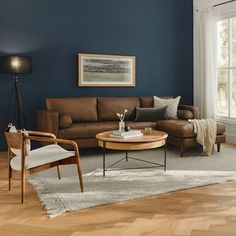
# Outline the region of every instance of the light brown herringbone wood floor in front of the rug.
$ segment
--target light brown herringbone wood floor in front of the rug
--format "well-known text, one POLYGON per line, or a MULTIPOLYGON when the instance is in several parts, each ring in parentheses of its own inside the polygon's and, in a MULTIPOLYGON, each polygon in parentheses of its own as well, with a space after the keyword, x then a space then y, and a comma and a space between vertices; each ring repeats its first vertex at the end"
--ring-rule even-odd
POLYGON ((49 219, 28 184, 26 203, 19 203, 19 176, 13 175, 13 190, 7 191, 6 167, 6 153, 1 153, 1 236, 236 235, 236 181, 95 207, 49 219))

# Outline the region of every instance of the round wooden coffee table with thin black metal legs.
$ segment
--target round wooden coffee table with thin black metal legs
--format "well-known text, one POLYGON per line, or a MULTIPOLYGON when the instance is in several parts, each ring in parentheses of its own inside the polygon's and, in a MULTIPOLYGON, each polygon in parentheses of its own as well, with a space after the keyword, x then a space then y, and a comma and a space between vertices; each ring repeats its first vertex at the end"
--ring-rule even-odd
MULTIPOLYGON (((115 164, 124 159, 128 161, 129 158, 152 164, 151 167, 145 167, 145 168, 163 167, 164 171, 166 171, 166 143, 168 134, 156 130, 152 130, 151 134, 145 134, 144 130, 142 132, 144 133, 142 137, 125 138, 125 139, 110 137, 112 131, 102 132, 96 135, 96 138, 98 140, 98 146, 103 148, 103 176, 105 176, 106 171, 110 170, 109 168, 111 168, 112 166, 114 166, 115 164), (162 146, 164 146, 164 164, 151 162, 147 160, 140 160, 128 156, 129 151, 154 149, 162 146), (126 156, 106 168, 106 149, 125 151, 126 156)), ((131 168, 126 168, 126 169, 131 169, 131 168)), ((137 169, 137 168, 132 168, 132 169, 137 169)))

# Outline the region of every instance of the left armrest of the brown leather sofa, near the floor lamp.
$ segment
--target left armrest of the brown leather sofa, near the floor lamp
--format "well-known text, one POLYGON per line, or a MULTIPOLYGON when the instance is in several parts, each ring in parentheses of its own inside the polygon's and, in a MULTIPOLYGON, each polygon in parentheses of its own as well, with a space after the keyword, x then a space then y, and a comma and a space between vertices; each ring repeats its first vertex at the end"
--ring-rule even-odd
POLYGON ((48 110, 37 110, 37 129, 42 132, 53 133, 58 137, 59 113, 48 110))

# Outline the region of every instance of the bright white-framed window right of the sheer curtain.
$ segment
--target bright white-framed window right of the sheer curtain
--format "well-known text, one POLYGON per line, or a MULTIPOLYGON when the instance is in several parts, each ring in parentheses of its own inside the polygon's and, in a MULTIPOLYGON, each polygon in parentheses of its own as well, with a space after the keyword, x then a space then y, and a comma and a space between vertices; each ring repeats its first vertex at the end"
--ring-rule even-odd
POLYGON ((217 116, 236 118, 236 17, 216 26, 217 116))

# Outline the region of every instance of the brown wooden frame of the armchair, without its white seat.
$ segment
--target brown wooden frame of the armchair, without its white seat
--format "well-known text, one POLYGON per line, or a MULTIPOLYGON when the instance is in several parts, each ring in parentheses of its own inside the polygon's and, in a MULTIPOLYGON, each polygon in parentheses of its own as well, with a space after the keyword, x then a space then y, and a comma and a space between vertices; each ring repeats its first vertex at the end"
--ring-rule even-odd
POLYGON ((58 139, 52 133, 45 133, 45 132, 31 131, 31 130, 27 130, 24 133, 22 133, 20 131, 18 131, 17 133, 5 132, 5 137, 6 137, 7 144, 8 144, 8 186, 9 186, 9 190, 11 190, 11 179, 12 179, 12 171, 13 171, 13 169, 11 167, 11 160, 15 156, 14 153, 11 151, 11 148, 21 150, 21 170, 20 170, 21 171, 21 203, 24 203, 24 198, 25 198, 25 179, 26 179, 26 177, 29 176, 30 174, 56 167, 58 178, 61 179, 59 165, 67 165, 67 164, 76 164, 77 165, 77 171, 78 171, 79 180, 80 180, 80 190, 81 190, 81 192, 84 191, 83 177, 82 177, 82 172, 81 172, 81 168, 80 168, 79 149, 78 149, 78 145, 76 144, 76 142, 71 141, 71 140, 66 140, 66 139, 58 139), (27 140, 53 143, 53 144, 71 145, 73 147, 75 155, 67 157, 62 160, 53 161, 53 162, 43 164, 43 165, 40 165, 40 166, 37 166, 34 168, 26 169, 25 168, 25 163, 26 163, 26 153, 25 153, 26 149, 25 149, 25 147, 26 147, 27 140), (22 151, 22 150, 24 150, 24 151, 22 151))

